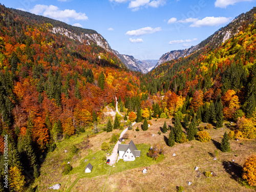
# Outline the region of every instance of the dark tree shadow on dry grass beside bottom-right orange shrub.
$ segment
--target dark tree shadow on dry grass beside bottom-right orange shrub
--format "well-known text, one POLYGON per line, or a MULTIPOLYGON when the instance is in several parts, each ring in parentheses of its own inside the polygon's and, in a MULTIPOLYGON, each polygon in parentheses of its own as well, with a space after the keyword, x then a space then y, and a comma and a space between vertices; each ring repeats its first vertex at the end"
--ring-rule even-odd
POLYGON ((230 175, 230 177, 236 181, 242 177, 242 169, 243 167, 238 163, 232 161, 223 161, 222 165, 225 171, 230 175))

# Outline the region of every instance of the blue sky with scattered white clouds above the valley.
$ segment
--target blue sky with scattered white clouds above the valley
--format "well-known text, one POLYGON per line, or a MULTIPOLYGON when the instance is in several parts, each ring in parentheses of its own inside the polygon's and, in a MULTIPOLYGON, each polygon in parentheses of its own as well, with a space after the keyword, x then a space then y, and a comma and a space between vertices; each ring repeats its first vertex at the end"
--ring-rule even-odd
POLYGON ((199 44, 256 0, 0 0, 6 7, 96 30, 120 54, 159 59, 199 44))

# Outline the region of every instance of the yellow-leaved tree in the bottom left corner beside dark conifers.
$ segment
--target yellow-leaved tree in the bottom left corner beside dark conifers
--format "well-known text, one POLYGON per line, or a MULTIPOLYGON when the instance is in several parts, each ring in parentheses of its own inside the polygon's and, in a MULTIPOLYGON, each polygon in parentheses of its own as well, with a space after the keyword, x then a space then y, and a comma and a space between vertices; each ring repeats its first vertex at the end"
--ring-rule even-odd
POLYGON ((13 191, 24 191, 25 177, 22 175, 21 170, 16 167, 10 167, 10 188, 13 191))

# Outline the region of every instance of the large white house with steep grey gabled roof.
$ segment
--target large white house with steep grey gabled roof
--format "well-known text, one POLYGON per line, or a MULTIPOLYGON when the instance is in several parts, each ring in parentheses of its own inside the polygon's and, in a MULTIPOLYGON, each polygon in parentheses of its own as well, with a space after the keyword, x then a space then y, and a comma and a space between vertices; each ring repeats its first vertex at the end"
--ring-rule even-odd
POLYGON ((129 144, 118 144, 118 155, 123 161, 134 161, 136 157, 140 157, 140 151, 131 140, 129 144))

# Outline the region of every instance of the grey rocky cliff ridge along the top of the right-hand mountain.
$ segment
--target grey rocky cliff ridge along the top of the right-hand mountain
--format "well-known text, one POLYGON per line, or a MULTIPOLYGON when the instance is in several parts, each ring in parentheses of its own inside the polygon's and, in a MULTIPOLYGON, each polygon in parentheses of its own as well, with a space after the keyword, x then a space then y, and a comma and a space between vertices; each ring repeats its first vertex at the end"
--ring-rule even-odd
POLYGON ((253 8, 247 13, 240 14, 239 16, 234 18, 232 22, 230 22, 227 26, 220 28, 218 31, 216 31, 214 34, 212 34, 196 46, 191 46, 190 48, 185 50, 174 50, 163 54, 157 62, 156 67, 160 66, 166 61, 178 59, 180 57, 186 57, 192 53, 199 51, 200 49, 203 49, 206 46, 210 47, 211 49, 220 46, 227 39, 230 39, 234 35, 238 34, 243 27, 246 27, 244 26, 244 22, 246 20, 253 19, 253 13, 255 12, 255 9, 256 8, 253 8))

